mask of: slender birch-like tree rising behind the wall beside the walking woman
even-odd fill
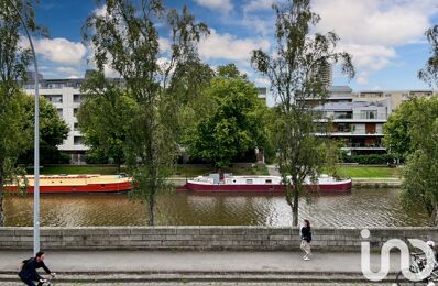
[[[350,55],[335,52],[339,37],[327,34],[310,35],[310,28],[319,15],[311,12],[309,0],[294,0],[278,7],[276,13],[276,50],[272,55],[253,51],[254,68],[271,81],[278,99],[274,122],[280,173],[286,188],[286,201],[293,211],[293,224],[298,224],[298,196],[304,193],[306,178],[315,178],[326,157],[316,136],[316,120],[321,113],[313,110],[307,99],[324,101],[328,95],[321,75],[331,64],[341,63],[342,72],[354,75]],[[291,185],[292,184],[292,185]]]

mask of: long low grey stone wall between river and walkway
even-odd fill
[[[368,241],[380,250],[388,239],[438,241],[437,228],[371,228]],[[360,251],[361,229],[315,228],[311,245],[320,251]],[[298,250],[298,229],[265,227],[99,227],[42,228],[42,250]],[[32,249],[32,228],[0,228],[0,250]]]

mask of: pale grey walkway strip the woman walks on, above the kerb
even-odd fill
[[[0,270],[17,271],[30,251],[0,251]],[[240,272],[240,273],[361,273],[360,253],[315,253],[303,261],[300,252],[182,252],[182,251],[48,251],[46,265],[54,272]],[[392,257],[392,271],[399,267]],[[372,268],[380,255],[371,255]]]

